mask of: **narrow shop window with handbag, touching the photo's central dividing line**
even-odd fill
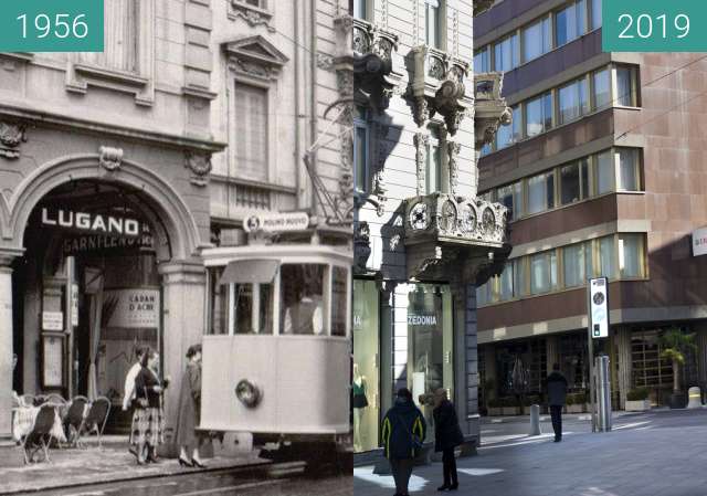
[[[354,281],[354,451],[374,450],[379,444],[379,300],[374,281]]]

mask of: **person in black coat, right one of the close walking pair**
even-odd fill
[[[454,448],[464,443],[454,404],[446,397],[446,389],[434,392],[434,451],[442,452],[444,484],[437,490],[456,490],[460,487],[456,474]]]

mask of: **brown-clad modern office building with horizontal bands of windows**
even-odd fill
[[[690,249],[706,222],[703,57],[602,52],[600,0],[498,2],[475,33],[476,66],[505,71],[514,114],[479,161],[482,192],[511,209],[514,246],[478,294],[488,405],[539,393],[553,362],[584,402],[597,276],[610,282],[610,337],[595,345],[611,359],[614,405],[635,388],[669,403],[671,328],[695,334],[680,382],[704,389],[705,264]],[[513,384],[518,360],[526,388]]]

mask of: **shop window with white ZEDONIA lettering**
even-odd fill
[[[454,398],[452,295],[449,286],[418,284],[408,305],[408,383],[434,437],[431,401],[421,397],[440,388]]]

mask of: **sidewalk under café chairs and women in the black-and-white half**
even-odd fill
[[[184,468],[177,460],[162,458],[158,464],[138,466],[135,456],[128,453],[125,436],[104,437],[98,448],[95,437],[88,441],[88,447],[52,448],[51,463],[35,463],[17,466],[14,458],[22,457],[22,448],[0,447],[0,494],[46,490],[57,487],[81,486],[103,482],[129,481],[146,477],[159,477],[177,474],[218,471],[223,468],[260,466],[266,469],[271,462],[254,454],[239,457],[217,456],[207,458],[207,468]],[[1,463],[12,457],[13,465]]]

